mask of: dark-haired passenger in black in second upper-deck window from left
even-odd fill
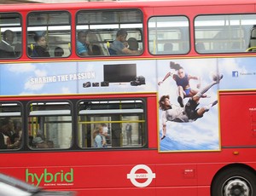
[[[32,57],[49,57],[48,46],[44,35],[36,34],[34,36],[36,45],[32,49]]]

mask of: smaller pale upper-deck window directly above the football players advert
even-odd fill
[[[148,47],[152,55],[187,54],[189,20],[185,16],[160,16],[148,20]]]

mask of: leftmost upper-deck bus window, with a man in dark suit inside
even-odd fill
[[[0,59],[21,56],[21,16],[18,13],[0,14]]]

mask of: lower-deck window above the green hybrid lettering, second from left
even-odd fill
[[[32,149],[71,147],[72,117],[68,102],[32,102],[29,106],[28,141]]]

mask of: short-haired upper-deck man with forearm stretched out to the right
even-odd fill
[[[126,37],[128,33],[125,29],[120,29],[116,34],[116,39],[109,47],[110,55],[140,55],[142,51],[127,48]]]

